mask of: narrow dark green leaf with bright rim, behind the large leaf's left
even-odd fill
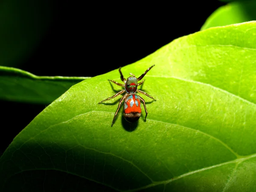
[[[0,99],[48,105],[71,86],[88,78],[35,76],[17,68],[0,66]]]

